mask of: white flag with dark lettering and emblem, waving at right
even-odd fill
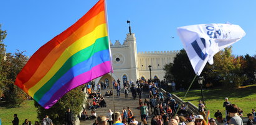
[[[207,62],[214,63],[214,54],[245,36],[239,25],[232,24],[189,25],[177,30],[197,75],[201,74]]]

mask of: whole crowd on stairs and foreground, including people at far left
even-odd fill
[[[90,115],[87,113],[87,109],[84,109],[80,114],[80,120],[95,120],[94,125],[97,124],[148,124],[148,121],[151,125],[166,125],[166,124],[175,124],[175,125],[185,125],[185,124],[197,124],[197,125],[206,125],[209,124],[216,125],[216,120],[218,123],[224,124],[243,124],[242,110],[235,104],[231,104],[228,101],[228,98],[225,98],[223,107],[225,108],[225,117],[223,118],[220,110],[214,114],[216,119],[207,118],[206,117],[206,106],[204,102],[199,100],[198,113],[193,114],[190,113],[186,108],[187,106],[181,104],[179,108],[179,103],[173,98],[171,93],[163,93],[159,91],[159,88],[164,87],[166,85],[165,80],[159,81],[151,81],[151,80],[141,80],[138,79],[136,82],[133,80],[125,81],[123,83],[123,89],[121,89],[120,80],[118,79],[116,82],[113,81],[113,90],[115,90],[116,95],[113,95],[113,90],[110,88],[107,92],[102,94],[101,90],[110,87],[108,83],[104,83],[100,81],[97,84],[97,88],[95,88],[95,82],[92,80],[89,82],[85,88],[88,93],[88,107],[87,109],[90,111]],[[175,82],[172,82],[172,85],[175,87]],[[95,92],[96,90],[96,92]],[[173,88],[175,91],[176,88]],[[123,107],[120,112],[113,113],[110,109],[108,110],[107,115],[98,116],[96,110],[97,108],[107,107],[107,103],[105,101],[105,97],[115,96],[120,98],[120,93],[125,94],[125,98],[133,98],[136,100],[138,95],[138,110],[140,110],[140,118],[135,118],[135,114],[130,109],[130,107]],[[148,95],[144,96],[143,95]],[[131,95],[131,97],[130,97]],[[145,98],[146,97],[146,98]],[[143,99],[142,99],[143,98]],[[138,114],[136,114],[138,115]],[[65,123],[73,124],[73,114],[70,111],[70,108],[65,112]],[[256,112],[252,109],[252,113],[247,114],[249,118],[247,124],[254,124],[256,122]],[[151,117],[151,119],[149,119]],[[138,120],[139,119],[139,120]],[[207,120],[208,119],[208,120]],[[19,119],[17,118],[17,114],[14,114],[13,124],[19,124]],[[25,119],[25,125],[32,124],[31,121]],[[23,125],[22,124],[22,125]],[[34,124],[39,124],[36,121]],[[53,124],[52,120],[49,116],[45,115],[45,118],[42,119],[41,124]]]

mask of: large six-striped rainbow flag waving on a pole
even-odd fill
[[[105,1],[100,0],[29,59],[15,84],[45,109],[65,93],[111,71]]]

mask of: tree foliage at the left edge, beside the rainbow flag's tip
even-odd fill
[[[17,52],[14,55],[6,53],[3,43],[6,38],[6,30],[1,30],[0,25],[0,96],[8,105],[20,105],[26,100],[26,93],[14,85],[16,75],[21,71],[27,61],[23,52]]]

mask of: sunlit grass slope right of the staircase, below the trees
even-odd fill
[[[174,92],[178,97],[183,98],[186,92]],[[228,89],[211,89],[204,90],[204,98],[206,100],[206,108],[210,110],[211,118],[214,118],[214,113],[220,110],[225,116],[225,108],[223,107],[224,98],[229,98],[230,103],[242,108],[244,111],[243,117],[247,117],[248,113],[252,112],[252,108],[256,108],[256,85],[248,85],[240,88]],[[190,90],[184,101],[191,101],[197,106],[198,100],[201,100],[201,90]]]

